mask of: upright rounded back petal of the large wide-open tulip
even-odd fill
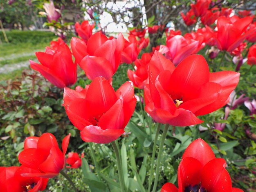
[[[191,55],[185,58],[171,75],[171,97],[183,101],[197,98],[198,89],[209,82],[209,67],[201,55]]]

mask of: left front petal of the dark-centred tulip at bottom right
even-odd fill
[[[184,191],[189,185],[199,184],[201,181],[202,163],[193,157],[186,157],[181,160],[178,167],[179,189]]]

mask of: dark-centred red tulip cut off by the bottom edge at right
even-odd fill
[[[161,192],[243,192],[232,188],[226,161],[216,158],[211,147],[201,138],[185,150],[178,167],[178,186],[166,183]]]

